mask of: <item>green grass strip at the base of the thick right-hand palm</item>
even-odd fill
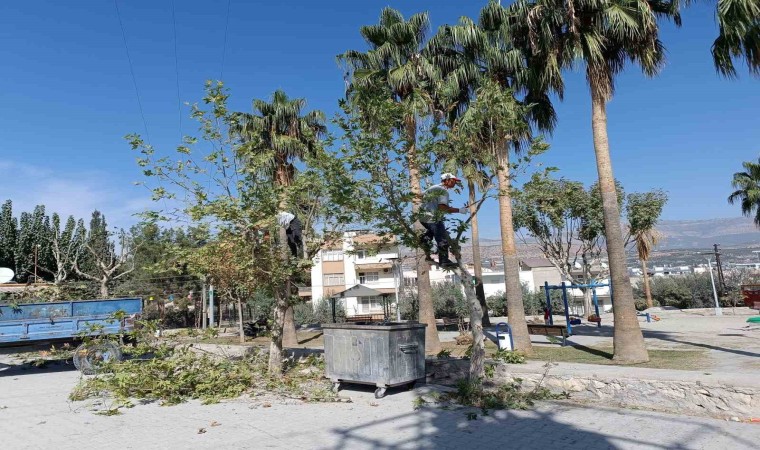
[[[533,346],[528,359],[583,364],[618,365],[612,360],[612,347],[586,347],[582,345]],[[704,350],[649,350],[649,362],[636,367],[653,369],[699,370],[709,366]]]

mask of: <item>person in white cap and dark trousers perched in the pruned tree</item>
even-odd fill
[[[432,241],[435,239],[436,246],[438,247],[438,265],[442,268],[456,266],[449,259],[449,243],[451,238],[448,231],[446,231],[446,225],[443,221],[448,213],[467,214],[466,207],[452,208],[449,206],[449,189],[460,183],[461,180],[454,176],[454,174],[444,173],[441,175],[441,184],[427,188],[422,194],[420,223],[425,227],[424,244],[431,247]]]

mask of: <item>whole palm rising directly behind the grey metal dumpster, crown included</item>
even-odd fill
[[[414,14],[405,20],[400,12],[387,7],[380,13],[377,25],[366,25],[360,29],[370,49],[366,52],[348,50],[338,56],[338,61],[348,69],[347,95],[360,110],[367,92],[382,92],[403,108],[403,118],[397,128],[406,138],[409,187],[415,213],[422,199],[417,117],[428,113],[431,86],[439,78],[426,48],[429,29],[427,13]],[[423,232],[421,224],[415,226],[420,233]],[[416,265],[419,318],[420,322],[427,324],[425,349],[428,353],[437,353],[440,341],[435,325],[429,267],[423,258],[417,258]]]

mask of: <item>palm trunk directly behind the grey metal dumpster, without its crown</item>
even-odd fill
[[[417,166],[417,122],[414,117],[407,117],[405,121],[407,149],[406,157],[409,165],[409,187],[413,197],[412,208],[416,213],[422,200],[422,187],[420,174]],[[424,232],[424,227],[419,221],[415,221],[414,228],[418,233]],[[417,298],[419,301],[419,321],[427,325],[425,327],[425,352],[436,354],[441,351],[441,341],[438,338],[438,329],[435,326],[435,309],[433,307],[433,293],[430,287],[430,266],[424,256],[417,252]]]

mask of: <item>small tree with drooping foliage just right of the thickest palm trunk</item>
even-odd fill
[[[636,247],[636,254],[641,261],[643,271],[644,295],[647,307],[654,306],[652,293],[649,289],[649,270],[647,261],[654,247],[660,240],[657,232],[657,222],[662,215],[662,208],[668,201],[668,196],[663,191],[628,194],[626,198],[626,216],[628,218],[627,241]]]

